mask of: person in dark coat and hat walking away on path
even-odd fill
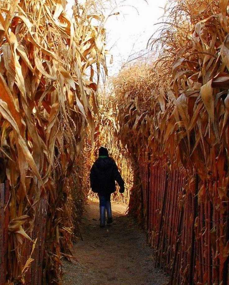
[[[107,224],[113,222],[110,195],[115,192],[115,181],[119,184],[119,192],[124,193],[124,180],[113,158],[105,147],[100,147],[99,157],[96,159],[90,171],[91,190],[99,195],[100,202],[100,227],[105,226],[105,213],[107,212]]]

